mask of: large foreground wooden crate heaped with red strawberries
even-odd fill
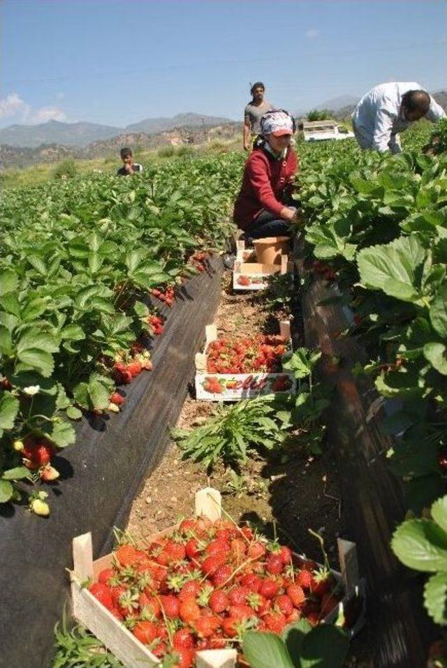
[[[247,665],[247,630],[281,634],[300,618],[348,617],[341,574],[222,518],[212,488],[196,494],[196,517],[144,545],[122,542],[93,561],[85,534],[73,558],[75,617],[129,668],[235,668]]]

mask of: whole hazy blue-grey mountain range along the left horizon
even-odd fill
[[[41,144],[85,147],[91,142],[101,141],[124,133],[160,133],[175,128],[202,128],[231,122],[229,119],[203,116],[201,114],[177,114],[172,118],[144,119],[126,128],[96,123],[62,123],[47,121],[40,125],[11,125],[0,130],[0,143],[11,147],[36,148]]]

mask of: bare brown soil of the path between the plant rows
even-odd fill
[[[277,310],[284,317],[284,306]],[[215,322],[219,332],[237,332],[241,336],[259,330],[272,332],[277,327],[277,320],[265,308],[260,295],[231,294],[230,272],[223,276]],[[299,338],[299,316],[294,329]],[[189,397],[177,426],[191,429],[214,410],[213,403]],[[281,542],[300,554],[323,561],[321,547],[309,528],[318,531],[324,538],[331,565],[338,567],[337,537],[343,533],[343,527],[339,480],[330,444],[326,444],[320,457],[312,457],[298,440],[281,457],[267,459],[256,454],[240,472],[221,465],[208,475],[200,464],[182,460],[182,451],[172,442],[135,498],[127,530],[136,539],[144,540],[155,531],[175,524],[180,517],[193,514],[194,494],[206,486],[221,491],[223,508],[235,521],[249,521],[271,537],[276,530]],[[363,631],[353,641],[349,667],[371,665],[367,660],[368,635]]]

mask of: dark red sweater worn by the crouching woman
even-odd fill
[[[275,159],[262,147],[254,149],[245,163],[235,202],[233,218],[237,227],[246,230],[263,209],[279,217],[285,206],[281,199],[291,191],[296,170],[297,159],[291,148],[284,160]]]

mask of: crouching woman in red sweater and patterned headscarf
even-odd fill
[[[283,237],[297,222],[293,179],[298,170],[291,148],[295,121],[285,110],[272,110],[261,119],[261,137],[245,163],[233,218],[246,239]],[[295,205],[295,206],[294,206]]]

